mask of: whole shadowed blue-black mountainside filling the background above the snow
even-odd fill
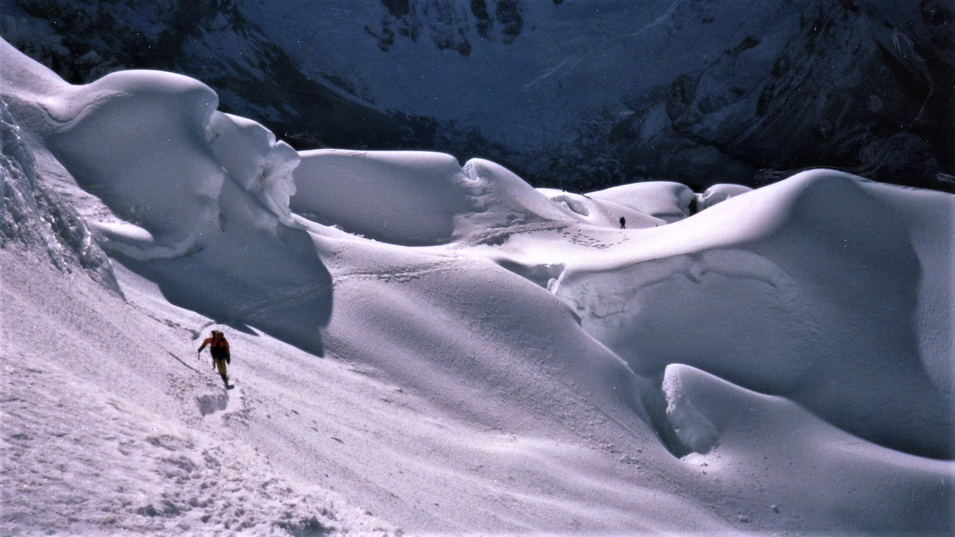
[[[942,0],[8,4],[0,35],[73,82],[192,75],[308,147],[438,148],[588,189],[955,174]]]

